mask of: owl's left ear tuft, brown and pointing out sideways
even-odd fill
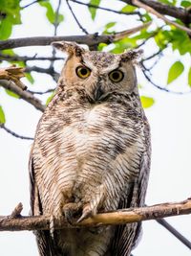
[[[51,43],[51,45],[62,52],[66,52],[69,55],[81,56],[81,54],[85,52],[85,50],[75,42],[54,41]]]

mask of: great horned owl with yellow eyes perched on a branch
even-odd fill
[[[142,206],[150,131],[141,107],[138,52],[91,52],[54,42],[68,58],[31,153],[32,215],[79,221],[97,212]],[[41,256],[128,256],[140,223],[37,231]]]

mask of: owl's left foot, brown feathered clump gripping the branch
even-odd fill
[[[82,204],[80,202],[69,202],[63,206],[63,214],[70,224],[74,223],[74,217],[80,214],[82,210]]]

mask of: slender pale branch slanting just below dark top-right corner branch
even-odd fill
[[[153,8],[145,5],[145,4],[142,4],[140,1],[138,0],[132,0],[133,4],[135,6],[138,6],[139,8],[143,8],[144,10],[146,10],[147,12],[150,12],[154,15],[156,15],[157,17],[159,17],[160,19],[162,19],[163,21],[165,21],[167,24],[170,24],[170,25],[173,25],[175,26],[176,28],[186,32],[188,35],[191,35],[191,29],[188,29],[182,25],[180,25],[179,23],[176,23],[170,19],[168,19],[167,17],[165,17],[164,15],[160,14],[159,12],[157,12],[156,10],[154,10]]]

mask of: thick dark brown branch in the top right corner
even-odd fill
[[[133,5],[132,0],[120,0],[120,1],[125,2],[126,4]],[[178,18],[184,24],[191,23],[191,12],[189,12],[186,9],[165,5],[165,4],[159,3],[158,1],[153,1],[153,0],[141,0],[140,2],[147,5],[148,7],[151,7],[152,9],[156,10],[160,14],[169,15],[171,17]]]

